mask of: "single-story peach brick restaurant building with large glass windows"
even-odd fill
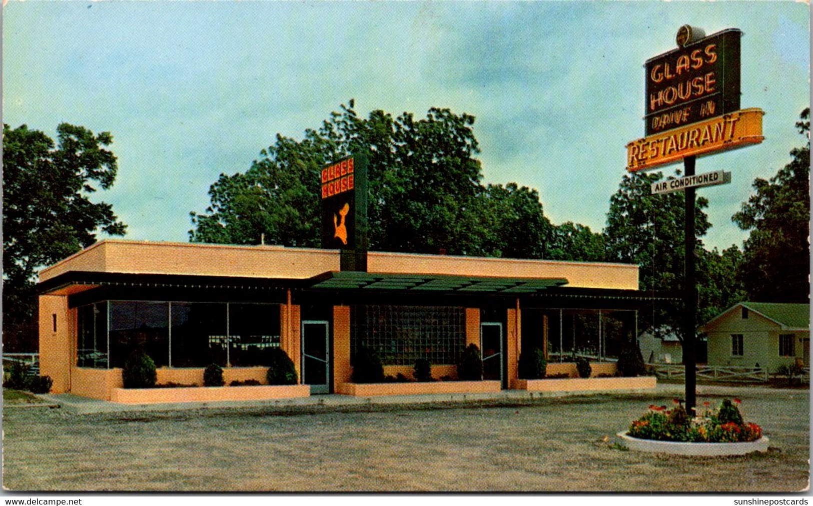
[[[198,385],[211,363],[227,384],[264,383],[263,351],[282,348],[311,393],[346,393],[359,346],[393,376],[425,358],[452,380],[472,343],[502,389],[522,387],[531,348],[549,374],[576,376],[578,353],[609,376],[624,339],[635,343],[637,311],[657,301],[633,265],[370,252],[359,272],[331,249],[132,240],[47,267],[38,289],[41,374],[55,393],[106,400],[134,348],[159,383]]]

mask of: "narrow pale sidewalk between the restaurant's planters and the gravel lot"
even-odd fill
[[[785,390],[772,389],[766,387],[742,387],[698,385],[697,392],[700,395],[740,395],[744,389],[748,391],[759,391],[760,393],[770,393],[772,391],[781,392]],[[808,392],[808,391],[800,391]],[[59,407],[67,409],[76,414],[89,413],[124,413],[141,411],[176,411],[182,409],[292,409],[307,407],[333,407],[333,408],[362,408],[364,406],[387,406],[403,404],[515,404],[524,403],[542,398],[574,397],[574,396],[596,396],[615,394],[651,394],[656,396],[682,396],[684,386],[681,384],[662,384],[652,390],[615,390],[615,391],[572,391],[572,392],[529,392],[522,390],[506,390],[497,393],[478,394],[424,394],[415,396],[344,396],[341,394],[324,394],[310,397],[299,397],[293,399],[278,400],[251,400],[251,401],[219,401],[219,402],[187,402],[187,403],[161,403],[161,404],[120,404],[109,400],[90,399],[89,397],[76,396],[73,394],[43,394],[40,397],[46,401],[42,407],[58,404]],[[9,406],[11,407],[11,406]]]

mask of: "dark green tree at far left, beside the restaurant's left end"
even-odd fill
[[[19,339],[36,309],[37,269],[93,244],[98,231],[124,235],[112,206],[89,195],[117,169],[109,132],[59,124],[57,143],[26,125],[3,124],[3,340]]]

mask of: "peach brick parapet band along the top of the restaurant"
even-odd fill
[[[370,272],[389,274],[565,278],[567,286],[576,288],[638,288],[638,267],[624,264],[371,252],[367,266]],[[41,270],[40,280],[70,270],[306,279],[339,270],[339,254],[281,246],[103,240]]]

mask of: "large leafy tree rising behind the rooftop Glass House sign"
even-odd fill
[[[277,136],[245,174],[220,175],[205,214],[192,213],[194,242],[318,246],[319,175],[324,164],[363,151],[369,157],[370,246],[385,251],[485,254],[485,223],[474,117],[430,109],[425,119],[354,103],[302,141]]]

